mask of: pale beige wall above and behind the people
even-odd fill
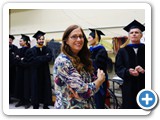
[[[12,9],[10,11],[10,34],[15,35],[14,43],[19,45],[20,34],[32,38],[37,30],[46,32],[46,39],[60,40],[63,31],[71,24],[78,24],[88,36],[88,28],[99,28],[106,37],[124,36],[127,33],[122,29],[132,20],[144,23],[145,11],[136,10],[63,10],[63,9]]]

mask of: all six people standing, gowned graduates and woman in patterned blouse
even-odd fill
[[[45,32],[38,30],[33,37],[37,44],[30,47],[30,38],[21,34],[20,46],[9,35],[9,103],[18,99],[15,107],[28,109],[105,109],[108,82],[107,50],[100,44],[98,29],[89,28],[86,38],[78,25],[69,26],[62,37],[62,46],[44,45]],[[121,109],[139,109],[136,96],[145,88],[145,45],[140,43],[144,25],[134,20],[124,30],[131,43],[120,48],[115,60],[115,73],[123,79]],[[54,40],[51,40],[54,42]],[[88,48],[87,45],[90,47]],[[61,46],[61,51],[60,51]],[[53,80],[49,62],[55,62]],[[51,84],[54,82],[54,88]],[[52,88],[56,101],[52,101]]]

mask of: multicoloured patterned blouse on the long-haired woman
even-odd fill
[[[93,81],[94,75],[85,70],[78,72],[72,65],[70,59],[61,53],[55,60],[53,68],[53,79],[55,84],[56,109],[94,109],[95,104],[92,96],[96,92]],[[71,98],[70,86],[78,93],[80,99]]]

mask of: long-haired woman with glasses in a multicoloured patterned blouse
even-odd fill
[[[87,39],[81,27],[69,26],[62,37],[61,54],[53,68],[56,109],[94,109],[93,95],[105,81],[105,74],[98,69],[93,74]]]

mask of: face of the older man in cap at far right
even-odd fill
[[[142,32],[138,28],[131,29],[129,31],[128,38],[131,40],[132,44],[139,44],[142,38]]]

